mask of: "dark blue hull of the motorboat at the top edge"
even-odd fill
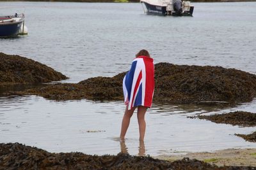
[[[157,5],[149,4],[149,3],[146,3],[143,1],[141,3],[145,4],[145,6],[147,8],[147,14],[164,15],[164,16],[165,15],[178,16],[177,13],[175,13],[174,11],[168,12],[166,10],[166,6],[157,6]],[[181,13],[181,16],[192,16],[193,10],[194,10],[194,6],[190,6],[189,11],[183,11],[183,13]]]

